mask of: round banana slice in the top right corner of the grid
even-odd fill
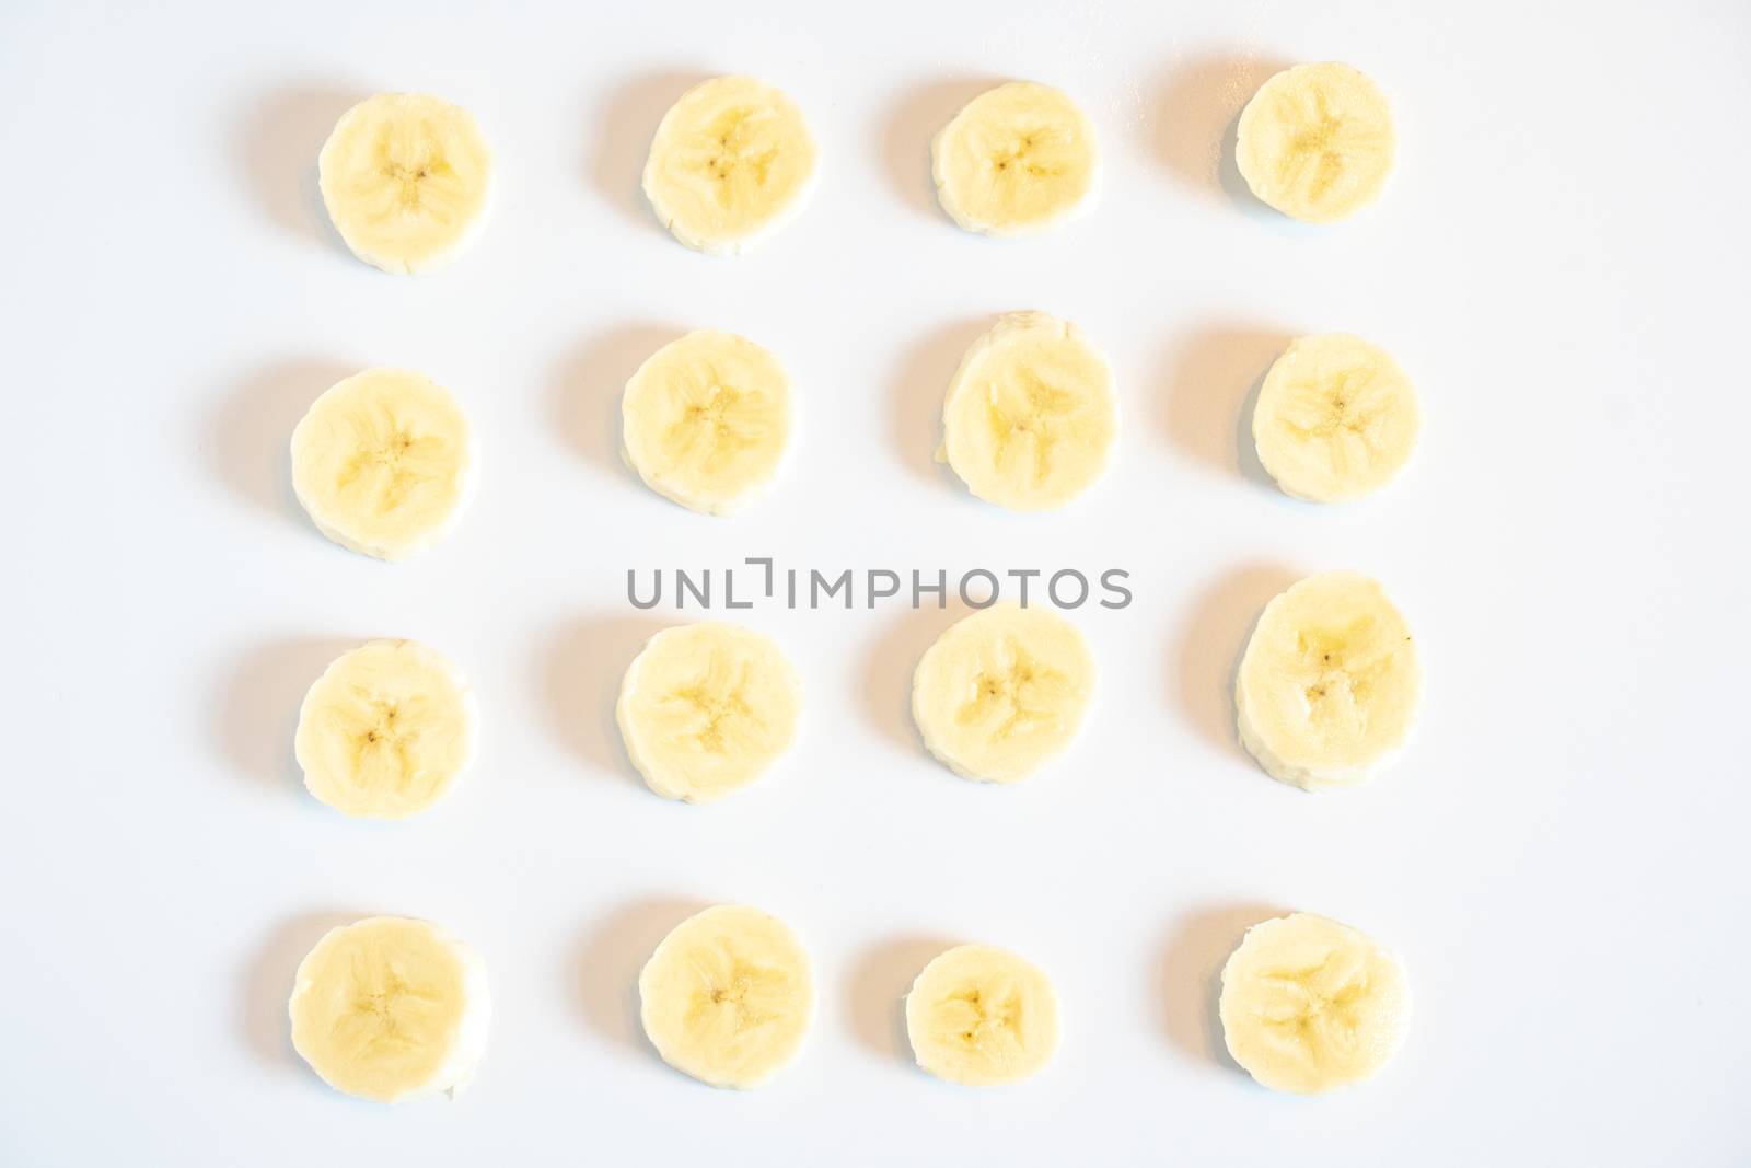
[[[1333,222],[1375,201],[1396,151],[1387,96],[1366,74],[1296,65],[1240,112],[1234,163],[1262,203],[1303,222]]]

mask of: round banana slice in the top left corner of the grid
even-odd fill
[[[422,93],[378,93],[341,114],[317,172],[352,254],[397,275],[461,256],[492,201],[492,149],[473,114]]]

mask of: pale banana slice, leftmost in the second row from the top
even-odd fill
[[[401,560],[438,543],[475,487],[475,434],[448,391],[366,369],[312,403],[292,431],[292,490],[334,543]]]

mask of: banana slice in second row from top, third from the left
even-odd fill
[[[1112,368],[1082,329],[1012,312],[974,341],[942,406],[942,457],[1014,511],[1058,508],[1101,475],[1119,429]]]

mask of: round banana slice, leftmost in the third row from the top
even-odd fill
[[[334,811],[404,820],[475,760],[475,692],[445,655],[371,641],[331,664],[298,713],[305,786]]]

